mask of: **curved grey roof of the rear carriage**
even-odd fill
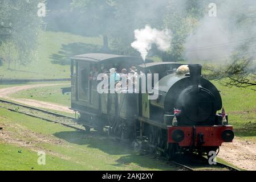
[[[83,55],[77,55],[70,57],[72,60],[88,61],[92,63],[120,63],[127,61],[127,63],[139,65],[143,63],[141,57],[136,56],[123,56],[123,55],[112,55],[105,53],[87,53]]]

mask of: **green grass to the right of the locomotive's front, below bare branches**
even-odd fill
[[[243,139],[256,140],[256,91],[226,87],[213,81],[221,91],[222,105],[229,115],[229,124],[235,135]]]

